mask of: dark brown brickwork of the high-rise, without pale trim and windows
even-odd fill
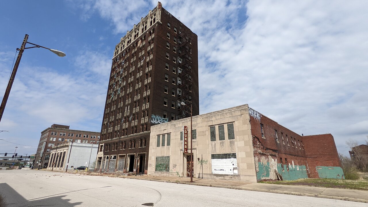
[[[157,10],[156,10],[157,12]],[[170,28],[167,27],[167,22],[170,22]],[[174,63],[173,62],[173,57],[178,57],[178,43],[174,43],[174,37],[178,38],[178,32],[179,32],[179,21],[173,17],[170,14],[167,14],[164,12],[164,9],[162,9],[161,11],[161,22],[156,22],[151,28],[147,29],[143,34],[141,34],[135,41],[132,42],[132,44],[130,46],[128,46],[127,48],[125,48],[120,55],[117,55],[114,57],[113,59],[113,63],[112,63],[112,69],[111,69],[111,74],[110,74],[110,80],[109,80],[109,87],[108,87],[108,91],[107,91],[107,96],[106,96],[106,104],[105,104],[105,113],[103,116],[103,123],[102,123],[102,128],[101,128],[101,138],[103,141],[103,144],[107,145],[110,144],[110,150],[109,151],[105,151],[103,152],[104,156],[106,155],[117,155],[117,154],[138,154],[138,153],[146,153],[146,161],[145,161],[145,169],[148,169],[148,151],[149,151],[149,130],[151,127],[151,115],[158,115],[163,117],[164,112],[167,113],[167,119],[169,119],[169,121],[171,121],[171,114],[173,113],[175,115],[175,119],[178,115],[178,110],[177,110],[177,67],[178,67],[178,63]],[[174,32],[174,27],[177,28],[177,32]],[[192,82],[192,103],[193,103],[193,115],[199,115],[199,92],[198,92],[198,45],[197,45],[197,35],[194,34],[193,32],[190,31],[190,29],[188,29],[187,27],[185,27],[184,25],[182,26],[185,32],[188,32],[188,34],[190,34],[191,39],[192,39],[192,78],[193,78],[193,82]],[[154,32],[154,37],[152,38],[152,34]],[[166,37],[167,32],[170,33],[170,39]],[[136,43],[139,42],[139,40],[145,36],[145,40],[144,46],[135,46]],[[151,36],[151,38],[150,38]],[[169,42],[170,43],[170,48],[166,48],[166,43]],[[153,43],[153,48],[151,49],[147,49],[149,45],[151,45]],[[138,45],[138,44],[137,44]],[[177,47],[177,52],[175,53],[173,51],[173,47],[176,46]],[[134,54],[132,54],[132,51],[137,48],[137,51],[134,52]],[[129,52],[128,52],[129,51]],[[144,55],[141,56],[141,58],[139,58],[139,53],[141,51],[145,51]],[[123,56],[125,52],[125,56]],[[149,53],[148,53],[149,52]],[[166,52],[170,53],[170,58],[166,59]],[[147,61],[147,57],[148,55],[152,54],[152,59],[150,59],[149,61]],[[136,57],[136,60],[133,60],[133,62],[131,62],[131,59],[134,58],[134,56]],[[142,60],[142,57],[145,57],[145,59],[143,60],[143,66],[138,67],[138,63]],[[121,61],[125,60],[124,63],[126,63],[126,61],[128,62],[128,66],[127,67],[123,67],[121,65]],[[152,70],[148,71],[146,73],[146,66],[147,63],[149,63],[149,65],[152,65]],[[166,63],[169,64],[169,69],[167,70],[165,68]],[[132,92],[131,95],[129,95],[129,93],[127,92],[129,87],[128,84],[128,78],[130,77],[130,71],[129,69],[131,67],[135,67],[135,69],[131,72],[132,76],[134,77],[134,80],[132,81]],[[176,73],[173,73],[173,66],[176,67]],[[127,75],[120,74],[120,70],[124,69],[124,72],[127,71]],[[139,73],[142,70],[142,76],[139,78],[137,77],[137,73]],[[165,74],[169,75],[169,80],[165,81]],[[151,77],[151,82],[148,84],[145,84],[145,80],[146,80],[146,76],[150,76]],[[119,78],[125,78],[126,84],[123,86],[122,84],[117,84],[119,81]],[[175,84],[173,84],[173,78],[175,78],[176,82]],[[124,90],[124,95],[120,98],[116,99],[116,101],[109,101],[109,99],[111,98],[110,95],[110,90],[114,89],[113,84],[115,83],[115,85],[118,85],[118,87],[122,87]],[[139,102],[139,111],[132,114],[132,110],[134,108],[134,96],[135,96],[135,85],[141,83],[141,87],[139,87],[137,89],[137,94],[140,94],[140,99],[137,100],[137,102]],[[147,129],[143,130],[141,128],[141,118],[142,118],[142,105],[143,105],[143,94],[145,90],[145,87],[148,87],[149,85],[149,90],[150,90],[150,95],[149,97],[149,108],[146,109],[147,110],[147,115],[148,116],[148,122],[147,122]],[[164,88],[165,85],[168,87],[168,92],[165,93],[164,92]],[[175,89],[176,90],[176,95],[173,96],[172,90]],[[116,90],[115,90],[115,95],[116,95]],[[131,98],[131,103],[128,103],[128,105],[126,105],[126,100]],[[167,106],[164,106],[164,98],[167,98]],[[171,107],[171,103],[172,101],[175,102],[175,106]],[[120,107],[119,106],[119,102],[121,102]],[[111,110],[112,106],[116,106],[114,108],[114,110]],[[137,120],[138,120],[138,124],[137,124],[137,131],[133,131],[133,133],[131,133],[132,130],[132,124],[131,121],[128,121],[128,127],[127,129],[127,133],[124,133],[124,129],[122,128],[122,124],[117,123],[116,119],[117,116],[119,115],[119,113],[122,113],[122,117],[120,119],[124,119],[124,111],[125,111],[125,107],[129,106],[130,107],[130,114],[125,116],[125,119],[129,119],[129,117],[131,115],[133,115],[133,117],[135,117],[135,115],[137,115]],[[106,112],[106,109],[110,108],[109,112]],[[114,116],[114,120],[111,122],[112,127],[113,127],[113,131],[111,132],[111,134],[109,135],[109,138],[107,138],[107,135],[109,134],[109,132],[104,132],[105,129],[106,131],[108,131],[109,128],[109,120],[110,117]],[[104,120],[107,119],[107,123],[104,123]],[[115,127],[118,126],[118,124],[120,124],[120,130],[118,130],[118,133],[115,134]],[[148,133],[143,133],[142,131],[148,131]],[[137,133],[137,134],[135,134]],[[135,140],[135,142],[138,144],[138,141],[140,138],[145,138],[146,139],[146,147],[142,147],[142,148],[132,148],[132,149],[128,149],[126,148],[126,150],[114,150],[112,151],[112,144],[114,143],[118,143],[118,145],[121,143],[121,141],[129,141],[129,140]],[[119,149],[120,147],[118,147]],[[125,157],[125,159],[127,159],[127,157]],[[125,169],[126,169],[126,165],[127,162],[125,162]],[[137,163],[135,163],[135,166],[137,166]]]

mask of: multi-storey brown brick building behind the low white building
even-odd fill
[[[82,131],[69,129],[69,126],[52,124],[51,127],[41,132],[33,167],[47,168],[49,165],[50,151],[54,145],[67,143],[73,140],[75,143],[99,143],[100,133],[95,131]]]

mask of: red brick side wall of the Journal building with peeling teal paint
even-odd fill
[[[251,108],[250,115],[258,180],[343,178],[331,134],[300,136]]]

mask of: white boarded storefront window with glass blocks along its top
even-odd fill
[[[236,153],[211,154],[212,174],[237,175]]]

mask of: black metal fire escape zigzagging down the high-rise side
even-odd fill
[[[179,57],[178,57],[178,116],[177,119],[183,119],[190,117],[190,106],[192,102],[192,57],[191,57],[191,39],[187,32],[183,29],[183,24],[179,23]],[[187,106],[181,106],[181,102],[184,102]]]

